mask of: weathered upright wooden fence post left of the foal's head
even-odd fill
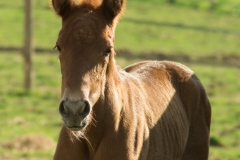
[[[33,65],[32,65],[32,55],[33,55],[33,17],[32,17],[32,1],[25,1],[25,42],[23,49],[24,57],[24,88],[30,90],[32,88],[32,76],[33,76]]]

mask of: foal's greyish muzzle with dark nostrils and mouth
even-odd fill
[[[90,111],[91,106],[86,100],[62,100],[59,105],[59,113],[65,126],[73,131],[82,130],[87,125]]]

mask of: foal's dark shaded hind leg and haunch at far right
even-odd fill
[[[196,76],[181,85],[181,99],[190,120],[189,136],[182,160],[207,160],[211,106]]]

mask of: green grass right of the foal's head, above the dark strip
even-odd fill
[[[117,48],[191,56],[236,54],[238,50],[240,23],[236,17],[147,2],[138,5],[133,1],[127,7],[117,28]]]

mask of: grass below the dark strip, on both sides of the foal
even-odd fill
[[[14,142],[25,134],[41,134],[57,141],[61,119],[58,114],[60,99],[60,70],[57,54],[36,54],[35,87],[26,92],[22,89],[22,57],[16,53],[0,54],[0,133],[2,142]],[[8,59],[8,63],[4,61]],[[127,60],[117,57],[122,66],[142,59]],[[184,62],[183,62],[184,63]],[[185,63],[200,77],[206,87],[212,104],[211,140],[216,146],[210,150],[210,159],[234,160],[240,154],[240,76],[239,69],[231,66],[214,66],[212,64]],[[213,74],[214,71],[214,74]],[[214,143],[212,143],[214,144]],[[12,148],[1,148],[0,155],[11,155],[11,158],[50,159],[54,151],[19,151]],[[0,156],[1,157],[1,156]]]

